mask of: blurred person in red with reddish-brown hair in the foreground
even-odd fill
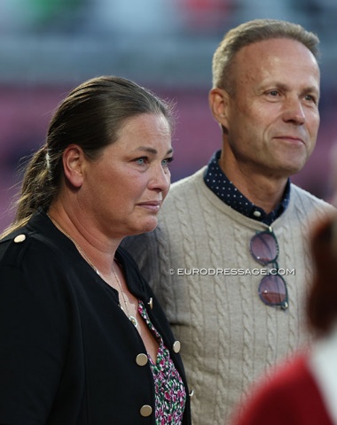
[[[307,314],[317,340],[252,389],[232,425],[337,424],[337,218],[317,225]]]

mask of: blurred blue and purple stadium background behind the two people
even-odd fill
[[[247,19],[286,19],[321,40],[317,147],[292,179],[332,201],[337,185],[336,0],[1,0],[0,231],[9,224],[20,158],[44,143],[51,114],[80,82],[116,74],[176,102],[172,180],[207,164],[221,135],[208,110],[211,60]]]

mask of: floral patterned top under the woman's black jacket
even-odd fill
[[[186,391],[175,364],[169,357],[161,335],[153,327],[142,301],[138,304],[138,313],[159,343],[157,360],[148,355],[155,385],[155,419],[157,425],[181,425],[183,423]]]

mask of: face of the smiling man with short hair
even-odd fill
[[[282,38],[239,50],[232,67],[223,153],[247,174],[288,177],[317,140],[319,69],[302,43]]]

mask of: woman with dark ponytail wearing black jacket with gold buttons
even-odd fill
[[[117,77],[59,105],[0,243],[0,423],[190,423],[180,343],[119,248],[157,225],[172,125]]]

